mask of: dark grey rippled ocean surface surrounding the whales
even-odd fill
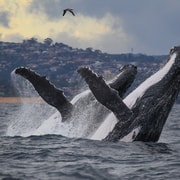
[[[157,143],[107,143],[53,134],[8,136],[9,126],[13,122],[17,126],[18,118],[23,119],[20,108],[21,104],[0,104],[0,179],[180,179],[178,104]],[[37,122],[38,109],[37,114],[28,111],[24,118],[30,122],[20,126],[21,130],[31,126],[33,119],[37,126],[41,123]],[[43,116],[51,113],[46,110]]]

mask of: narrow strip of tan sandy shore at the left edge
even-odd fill
[[[44,103],[40,97],[0,97],[0,104],[4,103]]]

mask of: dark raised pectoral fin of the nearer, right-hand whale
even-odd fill
[[[118,92],[107,85],[102,76],[87,67],[79,68],[78,73],[85,79],[95,98],[119,120],[126,120],[132,115],[132,111],[124,104]]]

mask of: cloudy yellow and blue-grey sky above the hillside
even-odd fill
[[[72,8],[76,16],[63,9]],[[51,38],[111,54],[168,54],[180,44],[180,0],[0,0],[0,41]]]

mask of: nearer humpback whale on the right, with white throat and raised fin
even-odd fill
[[[168,114],[179,93],[180,48],[171,49],[170,59],[165,66],[124,100],[92,70],[82,67],[78,72],[85,79],[96,99],[117,119],[112,130],[103,134],[100,139],[110,142],[159,140]],[[101,132],[103,127],[102,124],[97,131]]]

